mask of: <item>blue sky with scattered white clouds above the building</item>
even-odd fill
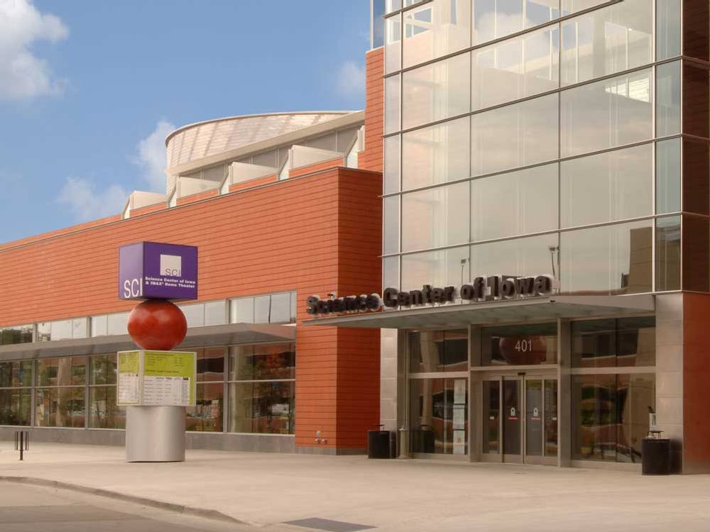
[[[159,187],[173,126],[362,109],[368,6],[0,0],[0,242]]]

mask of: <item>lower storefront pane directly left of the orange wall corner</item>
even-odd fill
[[[229,384],[229,431],[293,434],[295,382]]]

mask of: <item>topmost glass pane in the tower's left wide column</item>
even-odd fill
[[[471,2],[434,0],[404,13],[403,67],[471,45]]]

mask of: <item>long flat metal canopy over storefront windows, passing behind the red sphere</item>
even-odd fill
[[[175,350],[207,348],[216,345],[239,345],[247,343],[283,343],[296,339],[296,328],[291,325],[269,323],[231,323],[187,329],[185,340]],[[0,346],[0,360],[27,360],[33,358],[60,357],[67,355],[99,355],[116,351],[138,349],[127,334],[96,336],[77,340],[53,340],[50,342],[16,343]]]

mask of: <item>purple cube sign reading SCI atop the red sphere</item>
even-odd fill
[[[194,245],[138,242],[119,249],[119,299],[197,299]]]

